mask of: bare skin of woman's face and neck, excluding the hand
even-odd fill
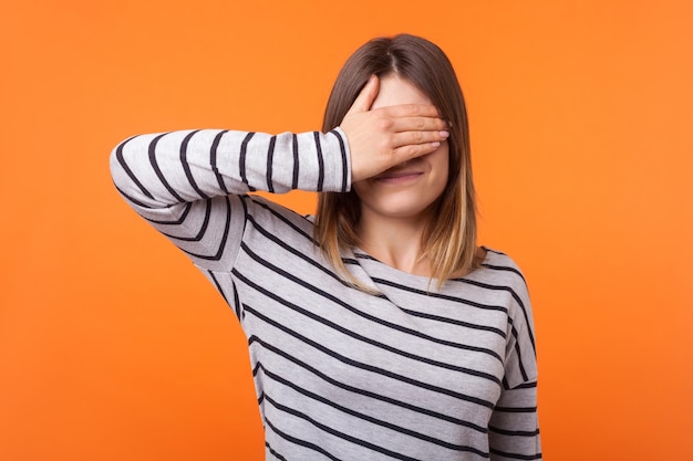
[[[395,74],[382,77],[371,111],[402,105],[430,106],[431,101],[407,80]],[[397,270],[423,276],[431,276],[431,264],[421,258],[421,237],[448,175],[447,132],[436,135],[439,140],[431,142],[427,153],[352,184],[361,199],[356,231],[362,250]]]

